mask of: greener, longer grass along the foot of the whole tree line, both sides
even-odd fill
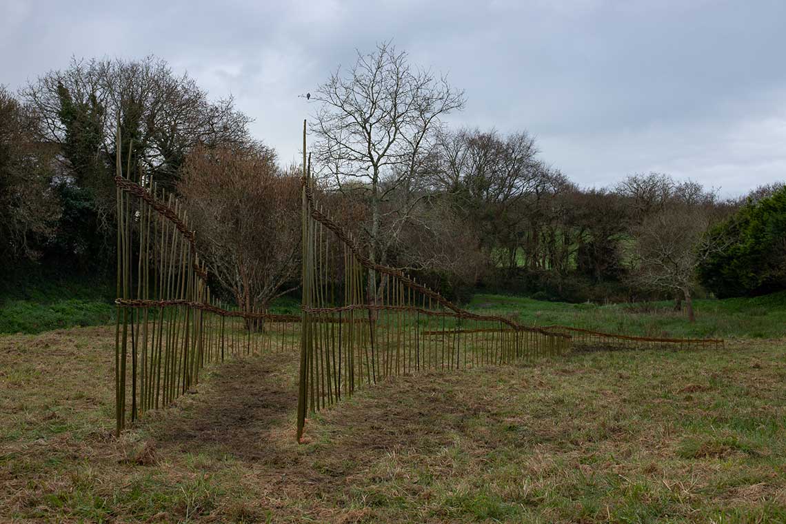
[[[0,333],[40,333],[114,321],[114,288],[87,280],[43,280],[0,296]],[[773,339],[786,336],[786,291],[754,299],[696,300],[695,324],[671,302],[568,304],[508,295],[475,295],[468,309],[512,314],[524,324],[565,324],[628,335]],[[299,314],[297,299],[274,301],[273,313]]]

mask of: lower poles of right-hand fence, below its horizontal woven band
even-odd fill
[[[310,313],[308,402],[318,410],[391,376],[565,354],[570,339],[410,310]],[[359,318],[358,318],[359,317]],[[448,327],[453,324],[453,327]]]

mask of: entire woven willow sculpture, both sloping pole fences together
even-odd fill
[[[117,144],[120,144],[118,129]],[[504,365],[571,345],[719,346],[714,339],[646,339],[567,326],[526,327],[470,313],[398,269],[375,264],[317,202],[303,126],[301,315],[241,312],[211,295],[182,204],[156,184],[117,187],[117,432],[170,405],[200,370],[227,357],[299,347],[297,438],[306,414],[391,376]],[[130,165],[126,174],[130,173]],[[372,290],[369,293],[369,290]]]

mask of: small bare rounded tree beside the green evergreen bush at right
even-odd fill
[[[707,235],[718,222],[713,192],[700,201],[671,200],[659,211],[634,225],[632,244],[623,244],[634,284],[660,291],[677,291],[684,297],[688,319],[696,321],[692,294],[696,289],[696,269],[707,256],[721,250],[719,240]]]

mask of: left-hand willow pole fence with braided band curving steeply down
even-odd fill
[[[124,178],[119,152],[116,170],[119,434],[127,420],[171,404],[196,385],[204,365],[296,352],[300,317],[241,312],[215,299],[181,203],[141,177]]]

